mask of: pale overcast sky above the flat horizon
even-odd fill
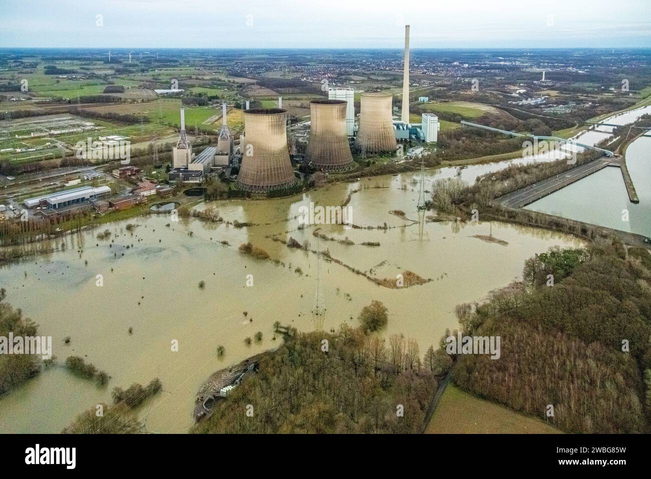
[[[405,23],[413,48],[651,47],[651,0],[0,0],[0,8],[0,47],[400,48]]]

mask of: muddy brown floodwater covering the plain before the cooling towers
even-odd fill
[[[459,176],[472,181],[494,167],[465,168]],[[456,169],[437,171],[428,175],[428,185],[457,174]],[[219,368],[279,344],[280,338],[272,339],[275,321],[303,331],[315,326],[329,330],[342,322],[357,325],[359,310],[372,299],[389,308],[385,334],[416,338],[422,355],[446,328],[456,327],[456,304],[480,300],[519,278],[523,261],[534,253],[552,245],[577,244],[568,236],[500,223],[423,222],[421,232],[419,224],[410,221],[419,220],[414,177],[364,179],[302,198],[210,205],[217,206],[226,221],[251,223],[244,228],[198,219],[173,223],[163,213],[113,223],[107,226],[113,232],[108,241],[95,238],[102,226],[66,238],[66,251],[3,268],[7,301],[34,318],[40,334],[53,336],[60,364],[70,355],[80,355],[111,375],[109,387],[98,389],[61,366],[42,372],[0,398],[3,432],[61,431],[83,409],[110,402],[113,387],[147,383],[155,376],[163,391],[141,409],[146,428],[187,431],[202,381]],[[352,223],[387,223],[386,229],[322,228],[328,236],[348,237],[355,245],[318,241],[312,236],[313,226],[298,229],[295,217],[301,204],[339,205],[355,189],[359,192],[350,200]],[[408,219],[390,215],[390,210],[403,210]],[[127,223],[137,225],[133,234],[126,230]],[[492,234],[508,245],[473,238],[477,234]],[[307,240],[311,249],[327,249],[333,258],[380,279],[395,279],[408,269],[432,281],[393,290],[324,261],[321,288],[326,316],[316,324],[311,315],[316,255],[289,249],[273,241],[274,235]],[[245,241],[266,249],[281,264],[242,256],[237,247]],[[362,241],[378,241],[380,247],[359,245]],[[97,275],[103,275],[104,286],[96,285]],[[246,286],[247,275],[253,275],[253,286]],[[199,288],[200,281],[204,288]],[[262,342],[245,346],[244,338],[256,331],[263,333]],[[71,337],[67,346],[66,336]],[[178,352],[171,350],[172,340],[178,340]],[[215,353],[219,345],[226,350],[223,359]]]

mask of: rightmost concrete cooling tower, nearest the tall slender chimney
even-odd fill
[[[396,150],[396,133],[391,115],[392,100],[391,94],[361,94],[359,130],[355,138],[355,148],[358,151],[380,153]]]

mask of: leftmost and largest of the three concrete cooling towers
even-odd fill
[[[287,111],[281,108],[244,112],[240,189],[264,193],[296,184],[287,149],[286,119]]]

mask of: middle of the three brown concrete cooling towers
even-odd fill
[[[344,100],[314,100],[310,102],[310,140],[305,159],[326,171],[341,171],[353,167],[353,156],[346,133]]]

